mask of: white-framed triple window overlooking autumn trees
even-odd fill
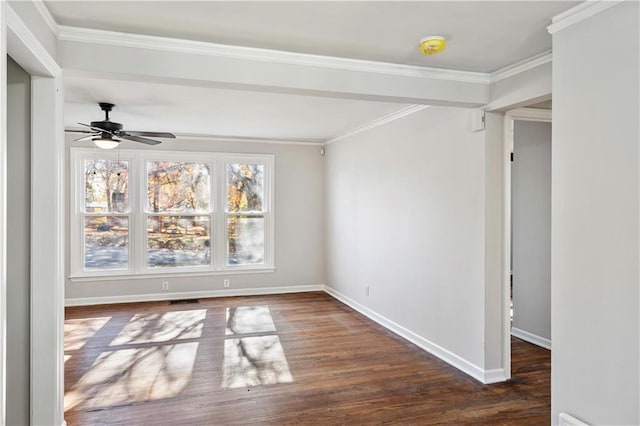
[[[73,148],[72,278],[273,269],[273,156]]]

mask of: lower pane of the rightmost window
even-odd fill
[[[256,265],[264,262],[264,217],[227,217],[227,264]]]

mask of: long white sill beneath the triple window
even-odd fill
[[[69,281],[72,283],[92,282],[92,281],[126,281],[126,280],[146,280],[153,278],[186,278],[186,277],[212,277],[223,275],[244,275],[244,274],[267,274],[275,272],[275,267],[259,267],[259,268],[238,268],[238,269],[219,269],[206,271],[158,271],[133,274],[128,271],[114,272],[111,274],[100,275],[71,275]]]

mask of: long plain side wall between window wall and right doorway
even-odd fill
[[[470,374],[486,370],[493,309],[484,305],[486,155],[469,111],[445,107],[327,147],[327,285]]]

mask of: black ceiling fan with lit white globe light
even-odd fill
[[[156,138],[176,137],[173,133],[167,132],[134,132],[122,130],[122,124],[109,120],[109,112],[111,112],[115,105],[108,102],[100,102],[98,105],[100,105],[100,109],[104,111],[103,121],[92,121],[90,125],[78,123],[81,126],[88,127],[89,130],[66,130],[71,133],[89,133],[87,136],[74,139],[74,142],[90,140],[99,148],[111,149],[118,146],[122,139],[140,142],[147,145],[158,145],[161,143],[160,141],[149,139],[145,136],[152,136]]]

